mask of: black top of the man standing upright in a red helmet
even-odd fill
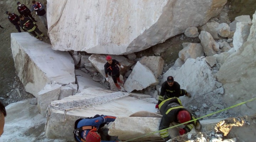
[[[117,66],[119,62],[115,59],[112,59],[112,64],[106,64],[104,65],[105,74],[108,74],[110,76],[116,76],[119,74],[119,67]]]

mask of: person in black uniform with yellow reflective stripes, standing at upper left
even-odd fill
[[[26,29],[29,33],[31,33],[34,37],[36,37],[39,40],[43,40],[41,37],[44,37],[48,39],[47,36],[45,36],[38,28],[36,25],[36,22],[34,22],[31,18],[24,17],[22,15],[20,17],[20,25],[22,26],[23,29]],[[41,36],[39,37],[36,32]]]

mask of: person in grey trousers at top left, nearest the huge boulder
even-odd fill
[[[31,11],[36,11],[36,15],[38,15],[38,17],[41,19],[41,21],[44,24],[44,27],[46,27],[46,29],[48,29],[47,27],[47,15],[46,15],[46,11],[44,10],[44,5],[41,4],[41,2],[36,2],[35,0],[32,1],[32,7],[33,9]]]

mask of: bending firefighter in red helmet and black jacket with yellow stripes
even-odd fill
[[[187,109],[185,109],[182,104],[181,100],[177,97],[169,98],[162,101],[159,104],[160,113],[162,114],[162,119],[160,121],[159,130],[166,129],[170,126],[172,122],[176,123],[184,123],[190,120],[196,119],[196,116],[192,115]],[[184,128],[180,128],[179,133],[183,135],[187,132],[190,132],[193,127],[195,126],[196,130],[201,129],[201,124],[199,120],[195,120],[185,124]],[[160,131],[160,136],[165,141],[171,139],[167,130]]]

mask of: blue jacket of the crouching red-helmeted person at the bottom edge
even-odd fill
[[[116,120],[116,117],[106,116],[106,115],[101,115],[100,117],[97,117],[94,119],[82,119],[78,122],[77,128],[84,127],[85,129],[79,132],[80,139],[78,137],[75,137],[75,139],[78,142],[84,142],[86,140],[86,136],[88,132],[91,129],[94,129],[94,128],[99,129],[101,124],[103,124],[104,126],[106,123],[113,122],[114,120]],[[88,129],[86,129],[86,126],[88,127]],[[116,141],[101,141],[101,142],[116,142]]]

